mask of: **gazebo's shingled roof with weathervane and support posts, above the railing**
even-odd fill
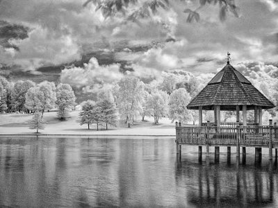
[[[228,53],[229,54],[229,53]],[[202,125],[202,110],[214,110],[214,123],[221,125],[221,110],[236,111],[236,122],[243,112],[243,125],[247,125],[247,110],[254,110],[254,125],[262,125],[262,109],[275,107],[247,78],[229,64],[188,104],[190,110],[199,110],[199,125]]]

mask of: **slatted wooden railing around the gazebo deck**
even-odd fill
[[[177,143],[192,145],[278,146],[278,126],[240,126],[238,128],[201,126],[176,127]],[[271,136],[271,137],[270,137]]]

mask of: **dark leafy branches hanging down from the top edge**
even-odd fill
[[[184,0],[180,0],[184,1]],[[96,8],[95,11],[101,10],[104,17],[113,17],[118,13],[121,13],[126,17],[127,21],[138,21],[155,15],[156,12],[161,8],[167,10],[170,8],[169,0],[88,0],[85,1],[83,6],[88,6],[89,3],[93,3]],[[220,6],[220,20],[224,21],[227,19],[227,15],[231,12],[235,17],[239,17],[239,8],[236,6],[234,0],[199,0],[199,6],[195,10],[186,8],[183,12],[188,13],[186,19],[187,22],[199,21],[200,15],[199,10],[206,4],[212,4]],[[137,6],[137,7],[136,7]]]

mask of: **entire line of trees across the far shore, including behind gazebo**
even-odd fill
[[[196,123],[198,112],[188,110],[186,105],[206,85],[208,80],[195,76],[179,73],[163,73],[160,80],[152,80],[144,83],[134,76],[125,76],[110,88],[99,90],[95,101],[83,101],[82,110],[78,122],[81,125],[96,124],[108,129],[108,126],[116,126],[118,121],[131,127],[139,119],[145,121],[145,116],[152,116],[155,124],[163,117],[168,117],[181,123]],[[266,90],[261,90],[268,96]],[[269,93],[270,94],[270,93]],[[273,93],[272,93],[273,94]],[[269,96],[277,105],[278,97]],[[34,113],[33,125],[43,128],[43,114],[47,110],[57,107],[58,118],[65,120],[67,111],[76,105],[72,87],[68,84],[44,81],[39,84],[31,80],[19,80],[15,83],[8,82],[0,76],[0,111],[1,112],[31,112]],[[203,112],[204,121],[213,121],[213,112]],[[223,121],[232,121],[235,112],[222,112]],[[263,120],[275,119],[277,108],[263,113]],[[254,113],[247,112],[247,122],[254,121]]]

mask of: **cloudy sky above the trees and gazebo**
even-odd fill
[[[239,17],[220,21],[220,7],[200,8],[199,22],[186,22],[186,8],[199,1],[170,1],[167,10],[138,22],[104,17],[93,3],[76,0],[0,0],[0,70],[17,80],[56,80],[94,92],[126,74],[158,79],[163,71],[195,76],[217,73],[227,51],[248,78],[278,77],[278,4],[235,1]],[[142,2],[142,1],[140,1]],[[140,6],[140,3],[138,5]],[[135,10],[132,6],[130,10]]]

